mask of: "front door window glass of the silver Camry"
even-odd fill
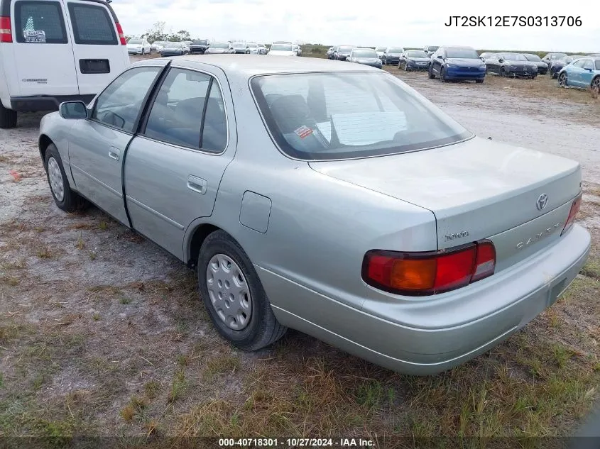
[[[92,118],[133,133],[143,100],[160,70],[160,67],[136,67],[119,75],[98,96]]]

